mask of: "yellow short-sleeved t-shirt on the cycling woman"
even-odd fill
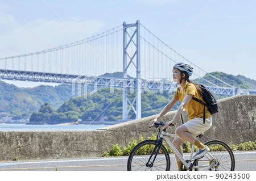
[[[187,86],[187,89],[186,89]],[[184,86],[178,87],[175,91],[174,98],[179,99],[180,102],[183,101],[185,98],[185,95],[193,95],[194,98],[200,99],[204,102],[202,96],[199,94],[199,92],[196,89],[196,86],[193,85],[193,83],[186,82]],[[204,105],[197,102],[196,100],[191,99],[187,106],[185,106],[185,110],[188,112],[188,119],[192,120],[195,117],[204,117]],[[210,112],[208,111],[207,107],[205,106],[205,118],[210,117]]]

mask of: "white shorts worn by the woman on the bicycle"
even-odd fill
[[[188,129],[189,133],[193,134],[193,136],[197,136],[207,131],[212,126],[212,117],[205,118],[205,123],[203,118],[196,117],[183,125]]]

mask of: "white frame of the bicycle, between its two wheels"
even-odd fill
[[[170,134],[170,133],[166,133],[165,131],[162,131],[160,134],[160,138],[164,138],[164,137],[179,137],[177,136],[177,134]],[[192,145],[191,148],[191,153],[189,155],[189,160],[188,163],[185,161],[185,159],[181,156],[181,154],[179,153],[179,151],[175,148],[174,144],[172,144],[171,140],[169,138],[164,139],[167,144],[171,147],[172,150],[174,150],[174,153],[177,155],[177,157],[180,159],[180,161],[183,163],[183,165],[187,168],[187,169],[198,169],[198,168],[203,168],[203,167],[214,167],[215,165],[201,165],[201,166],[194,166],[192,165],[192,168],[189,167],[189,165],[191,165],[191,161],[192,161],[192,157],[193,157],[193,150],[195,149],[195,145]],[[209,153],[205,154],[205,157],[207,157],[209,160],[210,159],[214,159],[214,157],[212,155],[210,155]]]

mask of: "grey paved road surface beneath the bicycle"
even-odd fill
[[[234,152],[236,159],[237,171],[255,171],[256,170],[256,151],[236,151]],[[174,154],[171,157],[171,170],[177,170]],[[98,157],[84,159],[55,159],[40,161],[10,161],[0,162],[1,170],[59,170],[59,171],[75,171],[75,170],[127,170],[128,157]]]

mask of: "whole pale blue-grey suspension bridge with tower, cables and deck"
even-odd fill
[[[256,90],[238,89],[208,74],[160,40],[139,20],[132,24],[124,22],[60,47],[0,58],[0,79],[78,84],[83,85],[84,90],[87,85],[121,87],[123,120],[128,119],[131,110],[139,119],[143,91],[177,89],[176,83],[171,81],[172,66],[177,62],[191,64],[194,68],[191,79],[204,83],[213,94],[256,94]],[[115,72],[122,72],[123,77],[102,76]],[[209,79],[204,78],[205,75],[209,75]],[[136,94],[134,100],[128,99],[129,90]]]

